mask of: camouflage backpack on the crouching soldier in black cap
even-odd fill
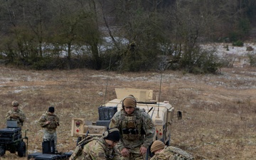
[[[82,141],[78,142],[78,145],[75,147],[75,151],[73,151],[73,154],[70,156],[69,160],[75,160],[82,154],[82,149],[85,146],[85,144],[91,142],[92,140],[95,140],[96,136],[87,136],[85,139],[82,139]]]

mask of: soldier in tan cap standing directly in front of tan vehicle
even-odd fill
[[[145,159],[146,151],[155,134],[154,124],[149,114],[136,107],[132,96],[122,100],[122,110],[111,119],[110,128],[118,128],[121,134],[119,148],[122,159]]]

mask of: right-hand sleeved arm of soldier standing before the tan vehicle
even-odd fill
[[[146,112],[144,112],[143,115],[143,129],[146,132],[146,134],[142,146],[149,148],[150,144],[153,142],[153,137],[156,131],[152,119],[149,117],[149,114],[146,114]]]

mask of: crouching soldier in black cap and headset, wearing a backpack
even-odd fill
[[[93,137],[84,146],[77,146],[69,160],[119,160],[120,156],[114,146],[119,142],[119,129],[108,129],[101,138]],[[83,147],[83,149],[82,149]],[[80,153],[82,149],[82,153]],[[80,153],[80,155],[78,155]]]

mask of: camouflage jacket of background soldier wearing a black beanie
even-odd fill
[[[46,124],[47,121],[49,121],[50,124]],[[40,126],[46,129],[50,134],[56,132],[56,128],[60,125],[58,116],[56,114],[50,114],[49,112],[42,114],[38,122]]]

